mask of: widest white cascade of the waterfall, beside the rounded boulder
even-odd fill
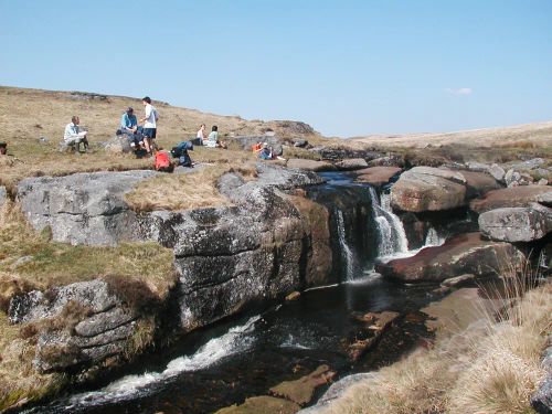
[[[378,256],[390,257],[408,252],[408,241],[401,219],[391,209],[390,194],[381,195],[381,203],[373,187],[369,187],[372,198],[372,213],[378,226]]]

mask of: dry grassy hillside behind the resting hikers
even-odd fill
[[[12,189],[25,177],[64,176],[81,171],[132,170],[151,168],[151,160],[130,155],[113,155],[97,146],[115,136],[120,116],[128,106],[138,117],[144,107],[141,97],[108,96],[83,92],[53,92],[0,86],[0,141],[8,142],[12,157],[0,159],[0,185]],[[160,113],[158,145],[170,148],[195,136],[201,124],[208,131],[219,126],[220,135],[232,141],[233,136],[263,135],[273,130],[278,137],[307,138],[319,142],[322,137],[310,126],[289,120],[245,120],[238,116],[221,116],[180,108],[153,100]],[[59,152],[65,125],[77,115],[88,130],[93,153]],[[203,162],[244,162],[253,160],[251,152],[238,146],[230,150],[197,148],[193,159]]]

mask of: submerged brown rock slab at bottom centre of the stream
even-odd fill
[[[270,393],[275,396],[283,397],[298,405],[305,405],[312,400],[315,390],[330,382],[336,372],[330,370],[328,365],[320,365],[308,375],[301,376],[296,381],[285,381],[270,389]]]

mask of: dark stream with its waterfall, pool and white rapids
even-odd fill
[[[351,219],[339,203],[332,209],[342,283],[312,288],[298,300],[251,309],[192,332],[125,376],[24,413],[213,413],[266,394],[270,386],[300,378],[320,364],[329,364],[341,376],[395,361],[427,335],[418,309],[434,296],[426,286],[395,284],[371,270],[373,259],[412,254],[389,197],[382,197],[380,203],[372,188],[352,183],[342,174],[328,177],[331,191],[350,187],[365,193],[369,214],[364,226],[372,220],[375,229],[361,233],[378,238],[375,253],[363,252],[368,244],[362,237],[368,236],[352,234],[359,226],[348,224]],[[362,219],[364,210],[359,209],[357,216]],[[436,232],[429,233],[426,243],[443,242]],[[363,254],[368,261],[359,259]],[[374,349],[352,362],[346,344],[361,328],[353,316],[383,310],[400,311],[402,317]]]

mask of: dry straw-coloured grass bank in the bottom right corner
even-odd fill
[[[545,374],[540,358],[551,333],[552,285],[520,297],[524,283],[514,280],[495,311],[478,306],[477,322],[380,370],[321,413],[532,412],[529,399]]]

